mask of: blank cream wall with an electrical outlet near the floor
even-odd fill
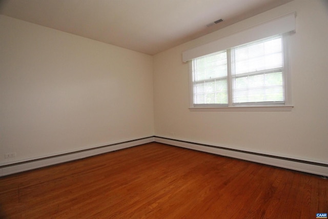
[[[4,15],[0,50],[0,165],[154,135],[152,56]]]

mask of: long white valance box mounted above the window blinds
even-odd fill
[[[295,13],[273,19],[272,21],[262,23],[227,37],[219,38],[216,41],[184,51],[182,52],[182,61],[187,62],[203,55],[257,41],[258,39],[295,31],[295,22]]]

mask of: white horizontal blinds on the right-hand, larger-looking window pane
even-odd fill
[[[232,103],[283,103],[281,35],[231,49]]]

